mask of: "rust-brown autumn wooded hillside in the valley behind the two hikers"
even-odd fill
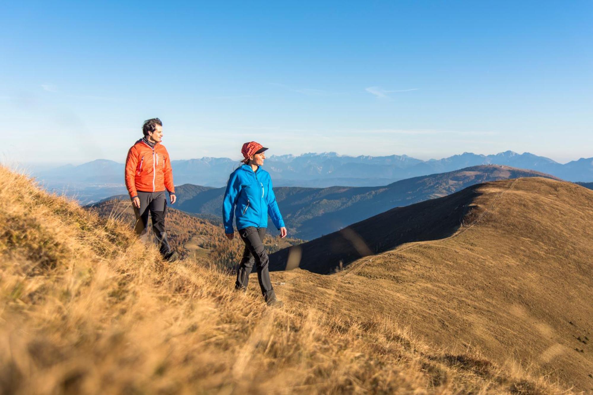
[[[105,200],[88,206],[88,209],[101,217],[125,222],[130,228],[135,224],[132,203],[129,199]],[[172,209],[170,206],[167,208],[165,225],[171,248],[177,251],[181,258],[208,258],[209,262],[218,267],[234,267],[241,260],[245,244],[239,237],[229,241],[221,225],[213,225],[205,219]],[[149,232],[152,230],[149,229]],[[269,254],[300,242],[302,240],[280,239],[269,235],[264,239],[264,245]]]

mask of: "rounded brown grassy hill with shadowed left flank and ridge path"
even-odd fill
[[[593,391],[591,223],[591,190],[502,180],[392,209],[270,262],[296,268],[278,276],[302,303],[384,314],[438,347],[474,347]]]

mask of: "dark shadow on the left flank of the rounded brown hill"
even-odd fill
[[[398,245],[449,237],[461,226],[466,208],[477,196],[468,187],[444,198],[398,207],[347,226],[340,231],[270,255],[270,271],[302,268],[330,274],[359,258]]]

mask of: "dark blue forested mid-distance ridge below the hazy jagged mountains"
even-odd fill
[[[394,207],[446,196],[477,183],[518,177],[555,178],[533,170],[489,165],[413,177],[379,187],[275,187],[274,191],[289,234],[310,240]],[[220,218],[224,191],[224,187],[180,185],[176,208]],[[118,197],[109,199],[113,198]],[[271,222],[269,229],[275,233]]]

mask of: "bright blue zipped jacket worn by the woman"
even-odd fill
[[[284,226],[282,215],[272,190],[270,173],[259,167],[253,171],[251,166],[244,164],[231,173],[227,190],[222,200],[222,221],[226,233],[232,233],[232,216],[237,222],[237,229],[247,226],[267,228],[267,215],[272,218],[276,228]]]

